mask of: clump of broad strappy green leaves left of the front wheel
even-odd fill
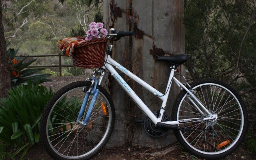
[[[14,147],[39,141],[39,122],[52,90],[28,82],[8,90],[8,97],[0,100],[0,140]]]

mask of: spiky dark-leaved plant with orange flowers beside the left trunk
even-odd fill
[[[44,68],[24,69],[36,59],[25,62],[26,57],[16,56],[17,52],[18,49],[14,50],[12,48],[9,48],[6,51],[8,66],[10,67],[11,72],[12,86],[26,84],[28,81],[32,81],[33,83],[36,83],[38,80],[40,80],[41,83],[49,81],[46,78],[50,76],[50,74],[36,74],[36,72],[44,70]]]

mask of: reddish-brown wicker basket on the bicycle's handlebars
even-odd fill
[[[104,65],[107,38],[93,39],[77,44],[72,54],[73,66],[100,68]]]

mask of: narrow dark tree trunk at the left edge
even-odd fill
[[[7,90],[11,88],[10,70],[7,65],[6,43],[4,26],[2,24],[2,2],[0,1],[0,98],[6,97]]]

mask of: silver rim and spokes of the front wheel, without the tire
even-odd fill
[[[48,143],[52,150],[63,158],[77,159],[89,156],[100,148],[110,130],[112,112],[110,103],[102,92],[99,92],[88,124],[82,126],[76,123],[85,96],[83,88],[86,87],[74,88],[58,98],[47,118]],[[91,98],[92,95],[81,121],[85,118]],[[102,111],[102,106],[106,112]]]

